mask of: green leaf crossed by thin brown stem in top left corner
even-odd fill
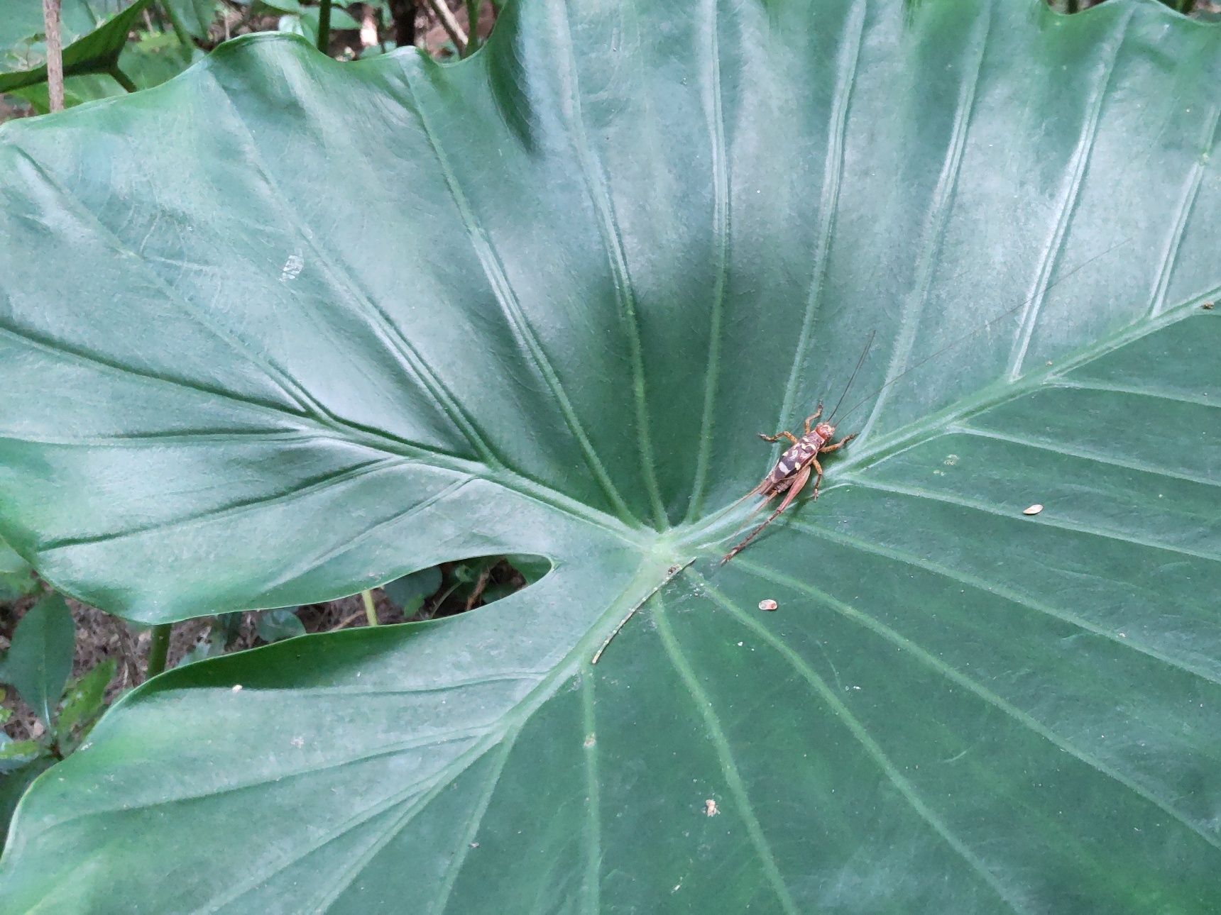
[[[109,73],[127,33],[153,0],[65,0],[61,7],[63,76]],[[15,0],[0,23],[0,93],[46,82],[40,0]]]

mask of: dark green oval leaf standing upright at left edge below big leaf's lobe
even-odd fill
[[[5,655],[5,681],[50,726],[63,684],[72,672],[76,626],[59,594],[48,594],[17,623]]]

